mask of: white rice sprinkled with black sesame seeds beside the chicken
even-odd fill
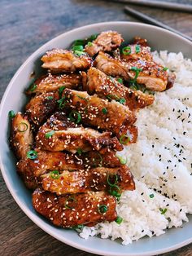
[[[123,222],[84,227],[80,236],[121,238],[124,245],[142,236],[159,236],[180,227],[192,214],[192,61],[181,53],[154,53],[155,61],[176,74],[170,90],[137,113],[137,143],[124,148],[136,183],[120,197]]]

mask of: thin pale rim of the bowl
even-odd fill
[[[26,60],[24,60],[24,63],[20,65],[20,68],[18,68],[18,70],[16,71],[16,73],[14,74],[14,76],[11,78],[11,81],[9,82],[8,86],[7,86],[7,89],[5,90],[4,94],[2,95],[2,101],[1,101],[1,104],[0,104],[0,117],[2,116],[2,107],[3,105],[5,104],[5,99],[7,98],[7,95],[9,93],[9,90],[11,89],[11,86],[13,84],[13,82],[15,81],[15,78],[18,77],[18,75],[20,75],[20,71],[28,64],[28,62],[30,62],[31,60],[33,60],[33,57],[35,55],[38,55],[38,53],[41,53],[41,50],[46,47],[48,44],[50,44],[51,42],[55,42],[57,40],[59,40],[60,38],[64,36],[68,36],[68,33],[75,33],[76,31],[79,31],[79,29],[89,29],[91,27],[98,27],[100,25],[116,25],[116,24],[122,24],[122,25],[126,25],[126,24],[130,24],[130,25],[136,25],[136,24],[141,24],[142,26],[144,27],[147,27],[147,28],[155,28],[155,29],[158,29],[159,31],[164,31],[164,33],[168,33],[168,34],[172,34],[174,35],[175,37],[177,38],[180,38],[182,39],[183,41],[187,42],[190,46],[192,46],[192,42],[190,42],[190,40],[186,39],[186,38],[183,38],[181,37],[180,35],[178,35],[177,33],[173,33],[171,31],[168,31],[167,29],[162,29],[162,28],[159,28],[159,27],[156,27],[154,25],[151,25],[151,24],[142,24],[142,23],[139,23],[139,22],[129,22],[129,21],[108,21],[108,22],[100,22],[100,23],[93,23],[93,24],[89,24],[89,25],[85,25],[85,26],[81,26],[81,27],[77,27],[76,29],[70,29],[68,30],[67,32],[64,32],[64,33],[61,33],[59,34],[58,36],[56,36],[55,38],[52,38],[50,39],[49,41],[47,41],[46,43],[44,43],[43,45],[41,45],[39,48],[37,48],[36,51],[33,51],[33,53],[31,55],[28,56],[28,58]],[[63,242],[64,244],[66,245],[70,245],[76,249],[81,249],[85,252],[89,252],[89,253],[92,253],[92,254],[98,254],[98,255],[106,255],[106,256],[153,256],[153,255],[156,255],[156,254],[164,254],[164,253],[167,253],[167,252],[170,252],[172,250],[175,250],[175,249],[179,249],[185,245],[189,245],[190,243],[192,243],[192,236],[190,239],[187,239],[185,241],[182,241],[180,243],[177,243],[176,245],[172,245],[172,246],[169,246],[165,249],[158,249],[158,250],[153,250],[153,251],[149,251],[149,252],[145,252],[145,253],[139,253],[139,254],[132,254],[132,253],[121,253],[121,254],[116,254],[116,253],[105,253],[103,254],[101,250],[97,250],[97,249],[90,249],[90,248],[87,248],[85,245],[80,245],[79,243],[76,243],[72,240],[68,240],[68,237],[62,237],[62,236],[59,236],[55,233],[52,233],[48,227],[45,227],[44,223],[40,222],[36,216],[32,214],[31,210],[28,210],[25,205],[22,203],[22,201],[20,201],[20,197],[19,196],[16,196],[15,195],[15,192],[13,190],[13,188],[11,188],[11,183],[9,182],[9,179],[7,178],[7,174],[6,174],[6,170],[4,168],[4,165],[2,164],[2,156],[0,155],[0,169],[1,169],[1,172],[2,172],[2,177],[7,185],[7,188],[9,190],[9,192],[11,192],[11,196],[13,196],[15,202],[17,203],[17,205],[20,206],[20,209],[24,212],[24,214],[26,214],[28,216],[28,218],[30,218],[33,223],[35,223],[37,225],[37,227],[40,227],[44,232],[46,232],[47,234],[49,234],[50,236],[53,236],[55,237],[55,239]],[[163,235],[164,236],[164,235]],[[122,245],[124,246],[124,245]],[[125,245],[125,246],[129,246],[129,245]]]

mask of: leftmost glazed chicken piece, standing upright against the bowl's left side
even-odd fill
[[[33,145],[31,125],[22,113],[17,113],[11,120],[10,143],[18,159],[25,158]]]

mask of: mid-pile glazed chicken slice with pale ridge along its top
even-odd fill
[[[99,151],[103,148],[118,151],[123,149],[116,137],[111,138],[110,132],[100,133],[62,118],[52,116],[40,127],[36,136],[37,148],[53,152],[67,150],[72,153],[77,152],[78,148],[82,152],[92,149]]]

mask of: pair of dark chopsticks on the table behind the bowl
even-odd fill
[[[124,3],[131,3],[134,5],[139,5],[139,6],[145,6],[145,7],[160,7],[164,8],[167,10],[174,10],[174,11],[186,11],[192,13],[192,6],[191,5],[184,5],[184,4],[179,4],[179,3],[173,3],[173,2],[158,2],[158,1],[148,1],[148,0],[112,0],[114,2],[124,2]],[[124,7],[124,11],[126,13],[129,13],[130,15],[133,15],[139,20],[145,21],[148,24],[154,24],[158,27],[168,29],[174,33],[177,33],[181,35],[183,38],[187,38],[188,40],[192,41],[192,38],[189,36],[181,33],[177,29],[172,29],[168,25],[160,22],[159,20],[155,20],[154,18],[151,18],[151,16],[143,14],[141,11],[136,11],[131,7]]]

